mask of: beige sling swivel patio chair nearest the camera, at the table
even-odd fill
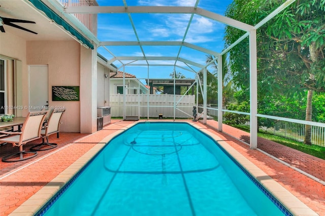
[[[46,114],[47,111],[29,112],[21,131],[0,131],[0,142],[12,143],[13,146],[19,147],[19,152],[3,157],[3,162],[23,161],[37,156],[37,152],[24,151],[22,147],[29,141],[41,138],[41,129]]]

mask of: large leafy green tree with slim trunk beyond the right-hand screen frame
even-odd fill
[[[255,25],[285,1],[234,0],[226,16]],[[296,1],[257,30],[259,99],[286,93],[304,96],[305,120],[312,120],[313,92],[325,91],[325,0]],[[242,31],[226,27],[226,44]],[[248,40],[231,50],[234,80],[248,90]],[[240,58],[238,56],[241,56]],[[236,59],[237,58],[237,59]],[[311,144],[311,127],[306,125],[304,143]]]

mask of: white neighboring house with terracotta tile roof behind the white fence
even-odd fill
[[[135,75],[124,73],[126,94],[147,94],[148,89]],[[123,72],[110,72],[110,94],[123,94]]]

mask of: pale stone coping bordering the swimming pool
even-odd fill
[[[58,174],[55,178],[53,178],[51,182],[49,182],[46,186],[40,189],[36,194],[32,195],[28,200],[26,200],[19,207],[17,207],[9,215],[25,216],[25,215],[36,214],[61,188],[63,188],[64,185],[66,185],[70,181],[70,179],[72,179],[79,172],[79,170],[82,169],[82,167],[86,163],[88,163],[98,152],[101,151],[102,148],[105,147],[107,142],[109,142],[118,134],[124,132],[126,129],[144,121],[146,120],[138,121],[137,123],[130,123],[127,126],[125,126],[125,129],[115,131],[109,134],[108,136],[106,136],[94,147],[92,147],[88,152],[86,152],[83,156],[81,156],[74,163],[72,163],[67,169],[63,170],[60,174]],[[150,121],[146,121],[146,122],[150,122]],[[182,122],[182,121],[178,121],[178,122]],[[219,136],[208,131],[206,127],[202,127],[197,123],[192,123],[188,121],[184,121],[184,123],[192,125],[194,128],[197,128],[198,130],[209,135],[211,138],[217,141],[218,144],[229,155],[231,155],[242,167],[244,167],[249,174],[255,177],[255,179],[262,186],[264,186],[277,200],[279,200],[288,210],[290,210],[291,213],[293,213],[294,215],[301,215],[301,216],[318,215],[306,204],[300,201],[296,196],[291,194],[283,186],[277,183],[272,177],[267,175],[264,171],[259,169],[251,161],[249,161],[242,154],[240,154],[233,147],[231,147],[228,143],[226,143],[226,141],[223,141]]]

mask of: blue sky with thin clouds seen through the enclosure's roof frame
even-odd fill
[[[124,6],[122,0],[97,0],[100,6]],[[194,7],[196,0],[126,0],[128,6],[188,6]],[[224,12],[232,0],[200,0],[198,7],[224,15]],[[131,14],[140,41],[182,41],[189,21],[189,14]],[[200,46],[215,52],[221,52],[224,47],[223,35],[225,25],[194,15],[186,34],[185,42]],[[137,41],[133,27],[127,14],[98,14],[98,39],[106,41]],[[146,56],[177,56],[179,46],[143,46]],[[107,51],[107,50],[108,51]],[[114,56],[143,56],[139,46],[106,46],[100,47],[98,52],[107,59]],[[113,55],[112,55],[113,54]],[[183,47],[179,57],[205,65],[206,53]],[[131,60],[122,61],[124,64]],[[143,64],[145,61],[137,61]],[[135,64],[133,63],[133,64]],[[175,61],[150,61],[154,64],[174,64]],[[121,62],[114,61],[114,65],[120,67]],[[198,67],[185,65],[178,62],[177,65],[199,70]],[[123,68],[120,68],[123,70]],[[170,78],[173,66],[150,66],[149,78]],[[186,78],[194,78],[194,73],[176,67],[178,73]],[[136,75],[137,78],[148,77],[147,66],[125,66],[125,72]]]

